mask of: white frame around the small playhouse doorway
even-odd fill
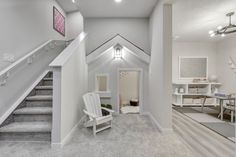
[[[139,114],[143,113],[143,69],[141,68],[118,68],[117,69],[117,109],[118,114],[120,114],[120,72],[121,71],[135,71],[139,72]]]

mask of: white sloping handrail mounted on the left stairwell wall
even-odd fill
[[[37,47],[36,49],[34,49],[33,51],[31,51],[30,53],[27,53],[25,56],[23,56],[22,58],[18,59],[16,62],[12,63],[10,66],[8,66],[6,69],[2,70],[0,72],[0,76],[4,75],[5,73],[7,73],[8,71],[12,70],[15,66],[17,66],[18,64],[20,64],[22,61],[26,60],[27,58],[29,58],[30,56],[32,56],[33,54],[35,54],[38,50],[40,50],[41,48],[43,48],[44,46],[46,46],[47,44],[49,44],[52,40],[48,40],[45,43],[43,43],[42,45],[40,45],[39,47]]]

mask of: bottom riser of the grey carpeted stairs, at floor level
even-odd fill
[[[1,133],[0,141],[51,141],[51,133]]]

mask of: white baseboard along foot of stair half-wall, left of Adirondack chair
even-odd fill
[[[73,135],[78,128],[78,126],[83,122],[83,120],[86,118],[86,116],[83,116],[77,124],[71,129],[71,131],[66,135],[66,137],[61,141],[61,143],[51,143],[52,149],[61,149],[63,148],[67,143],[70,142],[70,140],[73,138]]]

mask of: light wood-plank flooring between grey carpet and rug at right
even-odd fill
[[[235,143],[173,110],[173,128],[201,157],[234,157]]]

